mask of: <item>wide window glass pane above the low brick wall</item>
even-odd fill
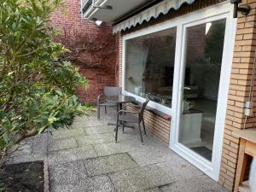
[[[171,108],[176,28],[126,41],[125,90]]]

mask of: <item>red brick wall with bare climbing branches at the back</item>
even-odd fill
[[[89,20],[82,20],[80,14],[80,0],[67,0],[63,9],[58,9],[55,14],[51,16],[51,26],[59,28],[64,32],[68,29],[69,35],[79,38],[74,33],[79,35],[87,34],[90,42],[108,42],[115,40],[109,38],[112,33],[111,26],[96,26],[94,22]],[[112,37],[112,35],[111,35]],[[62,40],[62,43],[65,44]],[[96,44],[98,46],[98,44]],[[88,52],[82,55],[82,60],[97,61],[102,63],[100,68],[81,67],[82,73],[89,81],[89,88],[87,90],[78,90],[79,98],[82,102],[96,102],[96,96],[102,93],[103,87],[106,85],[114,85],[116,82],[116,46],[113,51],[106,49],[98,49],[94,52]],[[106,55],[106,53],[109,53]],[[78,64],[78,63],[74,63]]]

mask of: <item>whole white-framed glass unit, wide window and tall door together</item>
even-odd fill
[[[236,20],[230,3],[123,36],[123,93],[172,116],[170,148],[218,180]]]

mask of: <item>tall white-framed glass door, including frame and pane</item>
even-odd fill
[[[218,15],[216,10],[190,15],[177,27],[182,35],[177,38],[181,51],[173,83],[171,148],[218,181],[236,20],[229,7],[218,9]]]

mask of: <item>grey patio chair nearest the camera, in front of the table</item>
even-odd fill
[[[147,107],[147,104],[149,102],[149,99],[147,99],[145,102],[143,102],[142,106],[138,105],[132,105],[132,104],[126,104],[125,105],[125,110],[119,110],[117,113],[117,124],[116,124],[116,129],[115,129],[115,142],[117,143],[117,138],[118,138],[118,128],[119,125],[122,126],[123,132],[125,129],[125,123],[137,123],[138,125],[138,131],[141,137],[141,141],[143,143],[143,134],[141,130],[141,122],[143,122],[143,131],[145,136],[147,135],[146,129],[145,129],[145,124],[144,124],[144,119],[143,119],[143,113],[145,111],[145,108]],[[139,110],[137,111],[127,111],[127,107],[134,107]]]

